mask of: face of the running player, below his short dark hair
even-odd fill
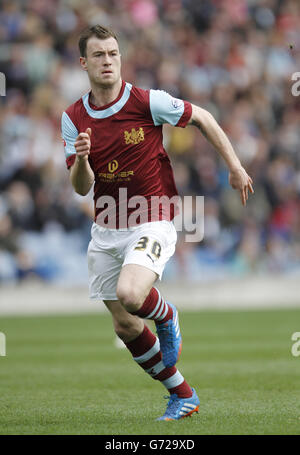
[[[86,57],[80,57],[90,81],[104,88],[112,87],[121,78],[121,55],[114,38],[100,40],[92,36],[87,41]]]

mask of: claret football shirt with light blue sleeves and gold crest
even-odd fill
[[[120,188],[127,189],[128,199],[139,195],[150,201],[151,196],[177,195],[171,163],[163,148],[162,125],[185,127],[191,114],[187,101],[124,81],[112,103],[94,106],[89,92],[63,112],[62,137],[68,168],[75,161],[78,134],[87,128],[92,130],[89,163],[95,174],[96,222],[103,210],[97,207],[99,198],[112,196],[118,206]],[[133,210],[128,209],[128,215]],[[149,209],[148,221],[154,221],[150,212]],[[159,219],[170,220],[173,216],[174,213],[162,210]],[[118,222],[117,219],[117,227]]]

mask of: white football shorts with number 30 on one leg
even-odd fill
[[[93,223],[88,247],[91,299],[118,300],[117,283],[126,264],[142,265],[161,279],[175,252],[177,232],[172,221],[154,221],[128,229],[108,229]]]

